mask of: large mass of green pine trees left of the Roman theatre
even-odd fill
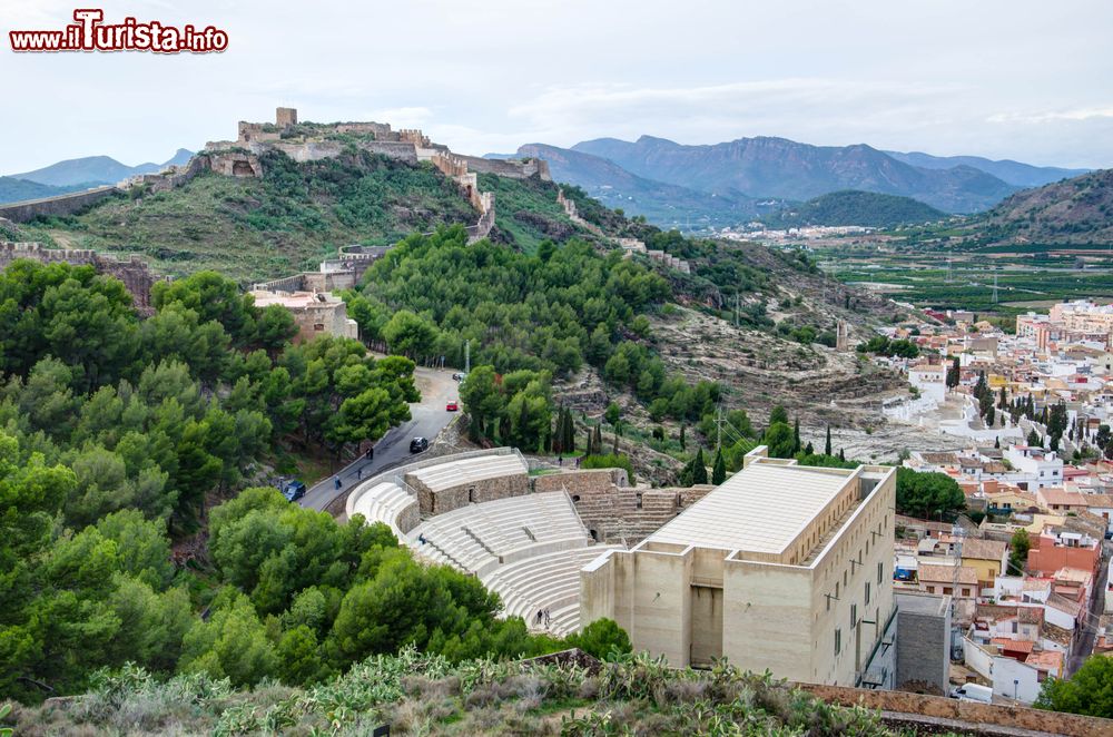
[[[268,499],[273,520],[214,512],[215,573],[204,559],[199,572],[171,567],[171,538],[280,443],[376,439],[417,396],[413,362],[373,361],[356,341],[290,346],[288,313],[256,308],[216,274],[160,284],[154,304],[140,320],[122,285],[89,267],[0,274],[2,692],[70,691],[127,660],[238,682],[280,675],[268,664],[290,662],[285,633],[258,617],[293,607],[306,576],[335,586],[377,539],[358,524],[329,532],[264,490],[240,499]],[[214,584],[230,588],[214,598]]]

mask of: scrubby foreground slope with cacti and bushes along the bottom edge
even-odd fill
[[[669,668],[648,656],[602,665],[452,664],[405,650],[309,688],[236,691],[206,676],[160,682],[130,669],[55,706],[19,708],[20,735],[837,735],[886,737],[881,715],[826,704],[771,678]],[[137,717],[141,714],[141,717]],[[624,731],[615,726],[621,724]]]

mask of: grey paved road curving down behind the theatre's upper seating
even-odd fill
[[[396,465],[410,458],[410,440],[416,435],[427,438],[430,442],[436,438],[446,424],[456,415],[447,412],[444,405],[449,400],[459,399],[457,384],[452,380],[452,370],[418,367],[414,372],[417,389],[421,391],[421,402],[410,405],[412,420],[394,428],[375,443],[375,458],[359,458],[346,465],[337,475],[343,487],[336,489],[334,476],[314,484],[299,501],[302,507],[323,510],[334,499],[344,493],[361,478],[366,479],[378,470]]]

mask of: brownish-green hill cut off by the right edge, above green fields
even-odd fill
[[[1005,242],[1113,242],[1113,169],[1016,193],[979,217],[976,227]]]

